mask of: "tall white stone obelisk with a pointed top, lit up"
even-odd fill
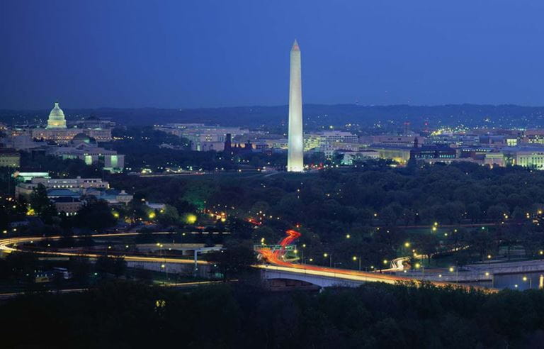
[[[302,136],[302,79],[300,78],[300,48],[297,40],[291,48],[291,71],[289,77],[289,131],[287,170],[304,170],[304,142]]]

